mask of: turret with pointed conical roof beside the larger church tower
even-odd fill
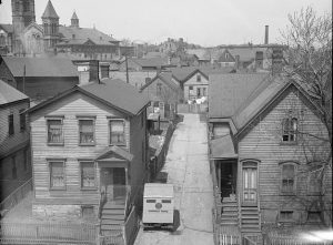
[[[52,50],[59,40],[59,17],[50,0],[42,16],[42,22],[44,29],[44,49]]]

